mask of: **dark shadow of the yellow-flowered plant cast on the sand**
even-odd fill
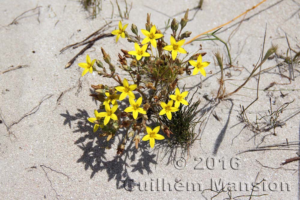
[[[82,151],[82,155],[77,160],[77,163],[83,163],[85,165],[85,170],[89,168],[92,170],[90,178],[93,178],[99,171],[105,170],[108,175],[108,181],[116,180],[116,188],[124,188],[125,183],[128,181],[133,182],[129,175],[130,172],[139,172],[140,174],[147,173],[152,174],[151,165],[156,165],[158,160],[158,152],[163,151],[165,157],[168,157],[168,165],[176,157],[177,153],[184,154],[184,151],[179,151],[177,148],[170,148],[167,142],[160,142],[160,144],[155,144],[153,149],[149,146],[149,141],[140,141],[139,148],[135,148],[135,143],[132,139],[128,139],[125,145],[125,150],[122,154],[116,154],[113,160],[107,160],[107,152],[110,148],[115,148],[113,146],[115,140],[122,139],[122,134],[124,131],[116,134],[109,142],[106,141],[106,137],[99,137],[101,132],[93,132],[93,124],[87,121],[88,115],[86,110],[77,109],[75,115],[70,115],[66,110],[66,113],[61,113],[60,115],[65,118],[64,125],[69,125],[70,129],[71,123],[77,124],[76,129],[73,133],[85,134],[79,137],[74,144],[77,145]],[[143,136],[141,136],[142,138]],[[178,152],[177,152],[178,151]],[[134,161],[138,160],[134,164]],[[123,184],[124,183],[124,184]],[[132,188],[126,188],[126,190],[131,190]]]

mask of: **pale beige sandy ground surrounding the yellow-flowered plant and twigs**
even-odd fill
[[[186,29],[195,36],[229,21],[258,2],[204,1],[202,10],[190,11],[190,19],[195,15]],[[124,6],[123,1],[120,4]],[[36,5],[41,6],[39,16],[34,10],[19,19],[17,24],[8,25],[16,16]],[[129,19],[124,22],[144,28],[146,14],[151,12],[152,21],[163,28],[169,17],[180,20],[186,8],[196,5],[197,1],[134,0]],[[119,20],[116,5],[114,8],[110,31],[114,30]],[[249,75],[253,64],[259,59],[266,23],[266,48],[278,44],[278,53],[285,53],[288,48],[286,32],[291,47],[299,51],[300,44],[296,39],[300,38],[299,10],[297,0],[268,0],[247,13],[239,28],[240,19],[224,27],[218,36],[226,41],[238,28],[231,35],[230,52],[233,64],[244,67],[241,72],[230,68],[225,73],[230,73],[231,79],[244,79]],[[77,63],[85,61],[86,53],[101,59],[100,47],[104,47],[117,64],[119,49],[133,50],[133,45],[126,40],[120,40],[116,45],[114,37],[104,38],[79,56],[68,69],[64,69],[64,65],[80,49],[68,49],[62,54],[59,50],[96,31],[105,24],[104,19],[110,21],[111,11],[110,2],[104,1],[101,14],[92,20],[88,19],[88,13],[77,1],[1,1],[0,71],[10,69],[12,65],[28,67],[0,74],[0,199],[211,199],[216,193],[206,189],[220,190],[221,182],[224,187],[235,183],[238,191],[232,191],[232,198],[244,195],[248,197],[236,199],[249,199],[250,184],[261,181],[253,195],[268,195],[252,199],[299,199],[298,161],[283,166],[286,169],[272,169],[279,168],[285,159],[295,157],[297,151],[236,154],[257,145],[276,144],[286,139],[298,141],[300,93],[282,91],[286,94],[284,96],[280,91],[260,91],[259,100],[248,109],[250,121],[255,120],[257,113],[267,112],[270,97],[274,109],[293,99],[294,102],[280,113],[286,124],[276,128],[277,136],[272,135],[271,131],[255,135],[238,118],[240,104],[247,106],[251,103],[256,97],[255,90],[242,89],[238,92],[240,95],[220,103],[208,102],[203,97],[217,92],[220,73],[213,61],[213,51],[220,49],[226,58],[222,43],[201,43],[203,51],[208,53],[203,59],[211,61],[207,69],[212,74],[201,79],[200,76],[192,76],[180,82],[180,85],[186,83],[191,91],[195,91],[202,80],[197,96],[202,100],[202,113],[206,111],[202,127],[196,129],[197,132],[201,129],[201,140],[194,143],[188,159],[186,154],[180,154],[180,149],[171,151],[164,141],[154,149],[149,147],[148,142],[142,142],[138,150],[134,149],[132,142],[128,142],[125,154],[119,156],[116,155],[116,148],[121,137],[115,137],[106,149],[105,139],[93,133],[92,125],[86,121],[97,108],[88,94],[90,84],[114,83],[97,74],[79,79],[82,69]],[[199,44],[195,42],[185,48],[195,51]],[[275,59],[272,59],[263,68],[275,64]],[[282,73],[289,76],[285,69],[281,68]],[[119,69],[117,73],[124,74]],[[274,85],[270,89],[300,89],[298,75],[295,71],[295,80],[291,84]],[[236,88],[229,82],[240,83],[226,82],[226,91]],[[289,80],[278,75],[276,67],[269,73],[263,73],[260,88],[267,87],[271,82],[289,83]],[[256,84],[257,79],[253,79],[247,87],[256,88]],[[213,117],[214,112],[220,121]],[[179,157],[187,159],[183,169],[174,166],[174,159]],[[179,161],[179,165],[182,164]],[[140,187],[128,187],[135,183],[140,183]],[[193,191],[192,183],[196,191]],[[245,184],[248,184],[248,191]],[[169,186],[172,191],[169,191]],[[229,194],[224,192],[214,199],[230,199]]]

